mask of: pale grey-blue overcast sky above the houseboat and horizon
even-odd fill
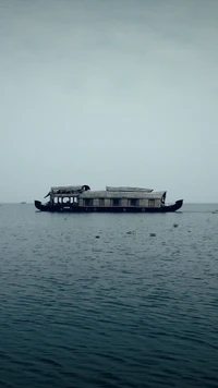
[[[217,0],[0,0],[0,202],[218,203]]]

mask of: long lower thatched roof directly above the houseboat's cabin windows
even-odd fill
[[[80,195],[80,198],[135,198],[135,199],[161,199],[166,196],[166,191],[162,192],[110,192],[110,191],[87,191]]]

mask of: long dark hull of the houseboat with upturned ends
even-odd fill
[[[43,205],[41,202],[35,201],[35,207],[40,211],[50,213],[172,213],[179,210],[183,205],[183,199],[177,201],[173,205],[165,205],[161,207],[136,207],[136,206],[66,206],[66,205]]]

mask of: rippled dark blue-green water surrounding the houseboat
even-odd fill
[[[217,208],[2,205],[0,387],[217,387]]]

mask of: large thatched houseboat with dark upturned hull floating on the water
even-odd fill
[[[166,204],[166,191],[153,189],[111,187],[92,191],[86,184],[80,186],[55,186],[45,196],[49,202],[35,201],[40,211],[69,213],[168,213],[180,209],[183,199]]]

